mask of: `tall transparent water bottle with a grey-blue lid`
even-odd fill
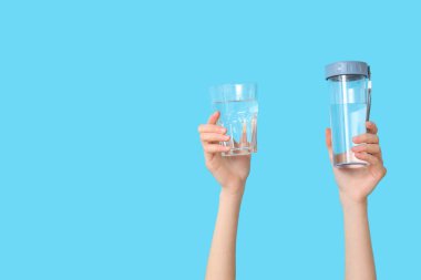
[[[351,148],[352,137],[367,132],[370,117],[370,66],[360,61],[340,61],[326,66],[330,92],[330,127],[333,166],[358,167],[368,163],[358,159]]]

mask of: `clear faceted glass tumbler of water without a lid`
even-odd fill
[[[210,87],[213,110],[220,112],[218,125],[227,128],[230,151],[223,156],[257,152],[257,86],[254,83],[222,84]]]

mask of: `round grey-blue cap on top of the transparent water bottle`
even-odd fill
[[[339,61],[326,66],[326,79],[338,75],[369,76],[369,65],[362,61]]]

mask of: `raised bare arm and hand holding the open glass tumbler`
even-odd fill
[[[250,170],[250,156],[223,157],[229,147],[219,145],[228,141],[226,129],[216,125],[219,113],[214,113],[198,132],[204,148],[206,167],[222,186],[219,209],[206,269],[206,280],[235,279],[237,225],[246,179]]]

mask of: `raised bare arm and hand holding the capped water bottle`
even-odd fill
[[[374,258],[371,248],[367,212],[367,197],[386,175],[379,146],[378,128],[367,122],[368,133],[353,138],[356,157],[369,163],[360,168],[336,168],[335,178],[343,210],[345,279],[376,280]],[[326,131],[326,144],[332,159],[331,132]]]

